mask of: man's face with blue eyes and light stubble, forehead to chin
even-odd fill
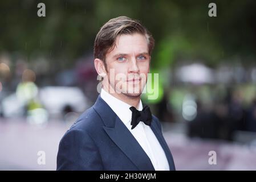
[[[147,39],[141,34],[120,35],[115,43],[116,46],[105,56],[108,73],[103,81],[104,87],[107,84],[114,94],[139,97],[149,73]]]

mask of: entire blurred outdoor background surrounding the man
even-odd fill
[[[143,103],[176,169],[256,170],[255,12],[254,0],[0,1],[0,169],[56,169],[60,139],[98,95],[95,36],[126,15],[156,40],[159,97]]]

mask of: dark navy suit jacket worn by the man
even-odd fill
[[[153,115],[151,129],[161,144],[170,170],[172,154]],[[153,171],[151,160],[111,107],[99,96],[59,143],[57,170]]]

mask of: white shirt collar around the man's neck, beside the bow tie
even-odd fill
[[[112,96],[108,92],[106,92],[103,88],[101,88],[100,97],[107,102],[107,104],[111,107],[111,109],[116,113],[116,115],[121,119],[121,121],[124,122],[124,124],[127,124],[128,122],[131,122],[132,119],[132,111],[129,109],[131,105],[119,100],[118,98]],[[139,109],[142,110],[143,105],[140,100],[139,102]]]

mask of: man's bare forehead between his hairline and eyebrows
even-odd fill
[[[108,51],[109,55],[115,53],[136,54],[148,52],[148,42],[144,35],[135,33],[117,36],[115,46]]]

